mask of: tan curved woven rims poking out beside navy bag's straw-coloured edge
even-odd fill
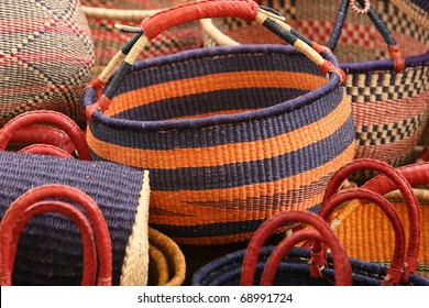
[[[147,285],[180,286],[186,278],[186,262],[180,248],[153,228],[148,228],[148,243]]]

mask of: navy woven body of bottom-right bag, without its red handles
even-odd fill
[[[254,285],[258,285],[267,258],[275,246],[263,246],[258,256]],[[193,286],[239,286],[243,258],[246,250],[234,251],[228,255],[216,258],[198,270],[191,280]],[[327,267],[322,270],[326,279],[310,278],[308,261],[311,251],[294,248],[282,260],[274,280],[276,286],[331,286],[334,279],[332,258],[328,255]],[[386,275],[386,266],[376,263],[362,262],[350,258],[353,286],[378,286]],[[429,280],[419,275],[411,274],[410,280],[415,285],[429,285]]]

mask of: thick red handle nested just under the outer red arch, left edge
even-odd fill
[[[19,131],[14,132],[10,143],[43,143],[61,147],[67,153],[73,153],[76,151],[76,147],[73,145],[70,138],[64,131],[52,127],[31,125],[28,128],[21,128]]]

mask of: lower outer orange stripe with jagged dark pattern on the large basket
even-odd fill
[[[246,200],[248,198],[262,199],[264,197],[273,197],[276,194],[285,194],[289,189],[299,189],[305,186],[311,185],[312,182],[316,182],[329,174],[332,174],[341,166],[351,162],[354,155],[354,143],[351,144],[341,155],[332,160],[331,162],[301,173],[288,178],[284,178],[271,183],[260,183],[241,187],[232,187],[227,189],[207,189],[207,190],[180,190],[180,191],[157,191],[152,190],[151,193],[151,206],[160,209],[165,209],[166,211],[172,211],[178,213],[175,217],[172,216],[162,216],[162,215],[150,215],[150,220],[153,223],[162,224],[179,224],[179,226],[195,226],[197,223],[213,223],[213,222],[231,222],[239,221],[243,219],[244,208],[237,209],[219,209],[210,208],[193,202],[219,202],[223,201],[231,205],[237,200]],[[305,189],[310,189],[307,187]],[[323,197],[324,193],[314,195],[307,200],[292,200],[292,204],[284,202],[280,209],[270,210],[263,208],[258,211],[249,211],[252,213],[252,219],[265,219],[272,216],[275,212],[288,209],[308,209],[319,202]],[[302,198],[302,197],[301,197]],[[262,202],[261,202],[262,204]],[[241,215],[240,215],[241,213]],[[179,217],[184,215],[183,217]],[[233,216],[237,215],[237,216]],[[238,217],[241,219],[238,219]],[[191,216],[191,217],[189,217]],[[249,217],[246,218],[250,219]]]

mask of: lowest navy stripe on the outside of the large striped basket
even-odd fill
[[[307,209],[308,211],[318,213],[320,205]],[[228,237],[240,233],[254,232],[264,222],[264,219],[234,221],[234,222],[217,222],[208,224],[195,226],[173,226],[150,223],[150,226],[160,232],[173,238],[202,238],[202,237]]]

